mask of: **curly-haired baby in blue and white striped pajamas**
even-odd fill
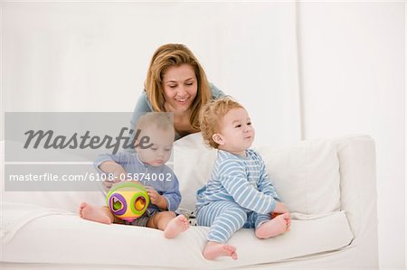
[[[200,118],[204,141],[217,148],[209,181],[197,191],[198,225],[211,227],[203,251],[205,259],[237,259],[226,242],[240,228],[255,228],[260,239],[285,233],[289,209],[279,200],[260,155],[249,149],[254,129],[248,112],[231,98],[203,107]],[[272,214],[279,214],[272,218]]]

